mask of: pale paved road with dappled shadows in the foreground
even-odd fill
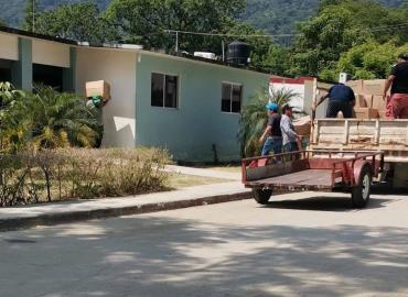
[[[310,197],[0,233],[0,296],[408,296],[408,197]]]

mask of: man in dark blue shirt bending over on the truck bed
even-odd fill
[[[322,97],[314,106],[316,109],[325,99],[329,99],[326,118],[337,118],[341,111],[345,119],[353,118],[353,107],[355,106],[355,95],[351,87],[339,84],[330,88],[326,96]]]

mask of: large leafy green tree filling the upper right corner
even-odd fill
[[[366,42],[408,42],[408,9],[389,9],[372,0],[324,0],[319,14],[300,25],[292,75],[333,70],[341,55]],[[405,25],[404,25],[405,24]]]

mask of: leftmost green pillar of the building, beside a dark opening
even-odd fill
[[[32,90],[33,86],[33,64],[32,64],[32,41],[19,38],[19,61],[13,63],[12,68],[13,85],[26,91]]]

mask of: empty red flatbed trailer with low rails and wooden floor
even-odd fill
[[[351,193],[352,204],[363,208],[372,184],[380,180],[383,152],[301,151],[243,160],[243,183],[258,204],[269,201],[273,189]]]

